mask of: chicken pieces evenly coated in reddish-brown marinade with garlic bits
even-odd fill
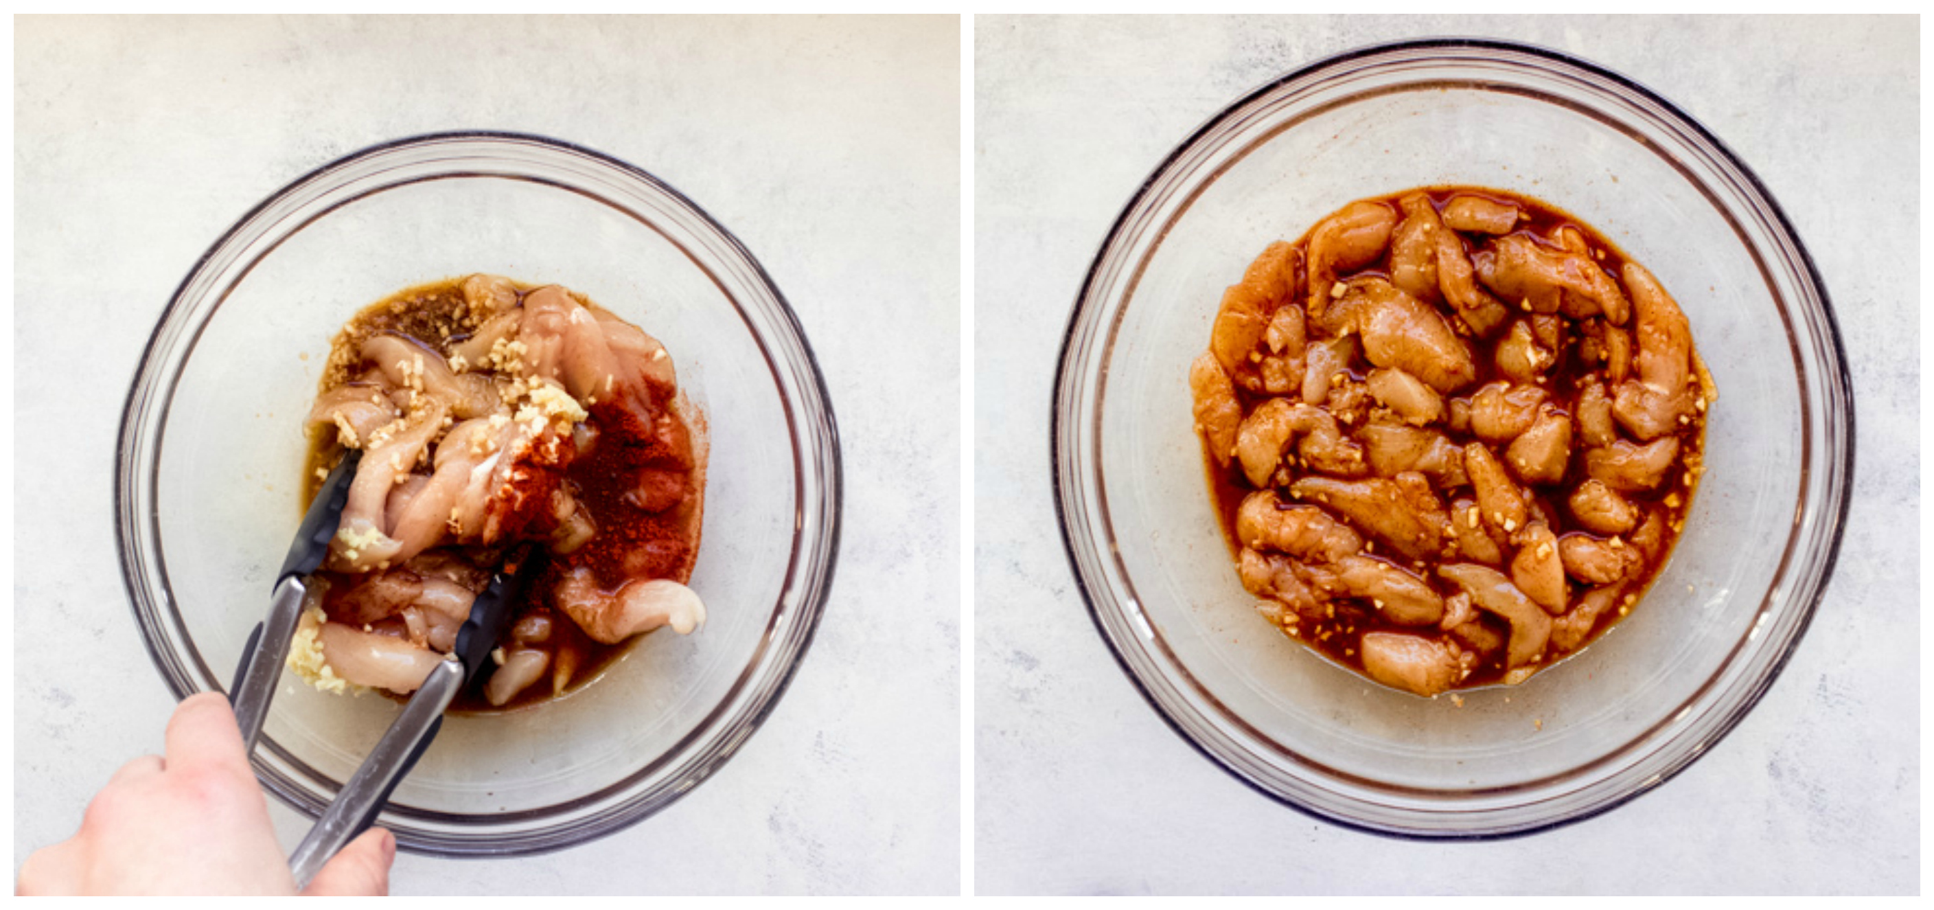
[[[1418,695],[1524,682],[1626,616],[1685,529],[1717,401],[1650,271],[1470,186],[1269,244],[1189,387],[1257,612]]]

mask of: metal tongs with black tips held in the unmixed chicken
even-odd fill
[[[296,542],[282,561],[282,571],[277,575],[269,618],[255,625],[242,651],[242,664],[236,666],[234,685],[228,691],[246,751],[255,751],[263,718],[269,714],[269,701],[282,678],[282,662],[288,660],[296,623],[302,620],[308,575],[319,569],[323,558],[329,556],[329,540],[337,536],[342,523],[342,507],[348,503],[350,480],[356,478],[360,461],[362,451],[350,449],[315,494],[309,513],[304,515],[302,529],[296,532]],[[437,738],[437,730],[443,728],[443,711],[451,707],[451,699],[464,685],[484,682],[497,668],[489,654],[509,625],[511,608],[522,600],[518,581],[528,581],[530,573],[518,573],[518,569],[528,556],[528,544],[516,548],[491,577],[489,587],[470,604],[470,618],[456,631],[456,649],[410,695],[402,714],[389,724],[375,749],[342,784],[329,809],[290,854],[288,865],[296,875],[296,887],[306,887],[337,850],[375,823],[389,794],[396,790],[396,782],[416,767],[416,759]]]

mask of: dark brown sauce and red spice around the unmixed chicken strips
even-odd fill
[[[447,327],[466,306],[462,281],[458,277],[410,287],[358,312],[348,321],[344,335],[338,335],[333,343],[335,350],[325,366],[319,391],[342,385],[350,376],[367,366],[354,356],[354,347],[369,335],[404,335],[449,358],[453,345],[470,337],[468,333],[447,333]],[[538,285],[516,283],[518,304],[536,288]],[[590,300],[580,298],[580,302],[592,312],[601,312]],[[634,412],[609,401],[588,409],[586,426],[596,434],[596,445],[590,447],[588,455],[576,457],[569,465],[563,486],[576,498],[580,509],[590,511],[598,532],[571,554],[553,554],[540,546],[534,556],[536,561],[526,569],[534,573],[526,604],[513,618],[513,623],[526,616],[543,614],[551,618],[551,639],[547,645],[553,649],[553,664],[559,652],[574,651],[580,654],[571,683],[565,691],[553,691],[547,672],[545,678],[540,678],[501,707],[484,701],[482,685],[472,685],[456,695],[449,711],[501,713],[565,697],[594,682],[636,643],[636,639],[617,645],[598,643],[555,606],[551,592],[557,589],[563,573],[572,567],[590,567],[605,591],[615,591],[629,577],[640,575],[673,579],[681,585],[690,581],[692,563],[696,561],[702,501],[698,496],[690,496],[690,492],[702,488],[704,476],[692,457],[690,428],[677,409],[667,407],[677,389],[658,385],[650,378],[646,378],[646,383],[650,401],[642,403],[642,410],[654,416],[654,426],[642,424]],[[304,465],[302,486],[304,511],[308,511],[309,501],[321,490],[329,470],[342,461],[342,453],[344,447],[337,441],[333,426],[315,426],[309,430],[309,455]],[[654,482],[646,490],[648,500],[656,501],[640,503],[636,498],[627,498],[627,494],[636,490],[634,484],[627,484],[627,478],[636,476],[642,469],[654,470]],[[427,469],[420,465],[418,472],[427,472]],[[671,498],[677,498],[677,505],[663,507],[663,501]],[[658,505],[663,511],[646,511],[644,505]],[[528,531],[542,536],[555,523],[547,515],[542,515]],[[439,546],[425,550],[425,554],[453,554],[476,565],[476,587],[482,587],[484,579],[505,558],[507,546]],[[340,622],[340,592],[352,587],[354,577],[331,571],[319,571],[317,575],[331,583],[331,594],[325,594],[323,610],[331,620]],[[398,620],[383,620],[383,623],[400,625]],[[383,695],[395,701],[408,699],[406,695],[389,691],[383,691]]]

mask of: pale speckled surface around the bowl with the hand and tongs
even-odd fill
[[[636,163],[760,258],[837,410],[845,532],[803,668],[723,771],[569,852],[402,856],[395,891],[957,891],[957,19],[17,19],[14,72],[14,556],[58,567],[14,583],[15,867],[172,707],[110,515],[162,304],[288,180],[482,128]],[[308,823],[273,811],[294,846]]]

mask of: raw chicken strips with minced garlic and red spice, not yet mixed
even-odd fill
[[[636,635],[694,631],[694,416],[663,345],[557,285],[470,275],[364,308],[308,420],[304,503],[348,449],[364,457],[290,664],[323,689],[414,691],[514,548],[528,596],[454,711],[545,701]]]

